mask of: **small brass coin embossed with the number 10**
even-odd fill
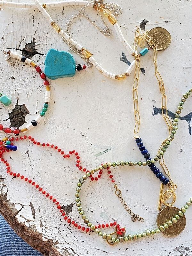
[[[151,37],[158,51],[166,49],[171,44],[171,35],[165,28],[152,28],[148,36]]]

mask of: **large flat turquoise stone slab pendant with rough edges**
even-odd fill
[[[75,75],[75,60],[69,52],[50,49],[47,52],[44,73],[50,79],[71,77]]]

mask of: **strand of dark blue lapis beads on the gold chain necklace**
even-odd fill
[[[150,154],[148,153],[148,150],[145,149],[145,146],[143,146],[143,142],[141,138],[137,138],[135,140],[137,142],[137,146],[139,147],[139,150],[141,151],[141,154],[146,158],[146,160],[151,160]],[[156,177],[163,182],[164,185],[167,185],[169,183],[169,179],[166,178],[162,172],[159,171],[159,169],[156,167],[155,164],[151,163],[148,165],[151,171],[156,175]]]

